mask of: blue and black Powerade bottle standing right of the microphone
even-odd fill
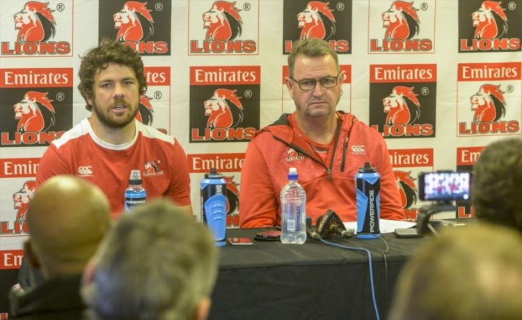
[[[357,200],[357,237],[375,239],[381,235],[379,218],[381,216],[381,175],[377,169],[365,163],[355,175]]]

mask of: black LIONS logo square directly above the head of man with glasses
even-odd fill
[[[351,1],[296,1],[283,4],[283,54],[298,39],[328,41],[338,54],[351,53]]]

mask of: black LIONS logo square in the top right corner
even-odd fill
[[[521,5],[520,1],[459,1],[459,52],[521,51],[517,21]]]

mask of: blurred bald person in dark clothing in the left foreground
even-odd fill
[[[9,319],[81,319],[81,273],[111,227],[109,201],[94,184],[58,175],[36,191],[27,224],[24,256],[44,280],[10,292]]]

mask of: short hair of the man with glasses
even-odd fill
[[[340,72],[339,59],[337,52],[330,46],[330,44],[319,38],[310,38],[304,40],[296,40],[292,45],[292,51],[288,55],[288,77],[294,77],[295,59],[299,54],[307,57],[317,56],[332,56],[335,61],[337,71]]]

